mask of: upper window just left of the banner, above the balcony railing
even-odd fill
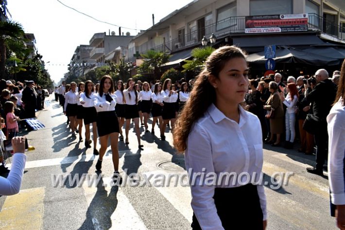
[[[236,19],[230,17],[236,17],[237,8],[236,1],[217,10],[217,31],[226,27],[236,25]]]

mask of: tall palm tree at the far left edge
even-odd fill
[[[0,21],[0,77],[5,77],[7,42],[23,42],[24,29],[21,24],[13,21]],[[24,45],[24,43],[23,43]]]

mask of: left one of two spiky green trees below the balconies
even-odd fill
[[[151,73],[153,74],[155,79],[159,79],[161,74],[161,67],[169,61],[171,55],[155,50],[149,50],[147,53],[141,54],[141,57],[144,58],[144,61],[139,66],[138,73]]]

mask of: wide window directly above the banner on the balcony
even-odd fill
[[[293,13],[293,0],[250,0],[250,15],[287,15]]]

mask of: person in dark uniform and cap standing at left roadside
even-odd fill
[[[33,87],[34,81],[25,81],[26,87],[23,90],[21,100],[24,104],[25,118],[35,118],[37,108],[37,93]]]

